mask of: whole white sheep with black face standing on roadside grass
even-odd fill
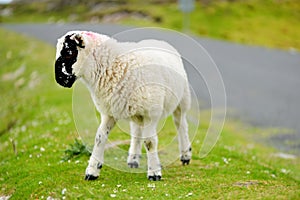
[[[189,164],[192,149],[186,115],[191,97],[183,62],[174,47],[158,40],[118,42],[95,32],[69,31],[58,39],[56,48],[56,82],[70,88],[80,79],[101,114],[85,180],[99,177],[105,142],[120,119],[130,123],[129,167],[139,167],[144,143],[147,177],[161,180],[156,128],[160,119],[171,114],[181,162]]]

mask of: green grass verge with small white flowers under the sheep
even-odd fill
[[[253,132],[263,130],[227,121],[213,151],[200,159],[197,155],[209,119],[205,114],[199,134],[193,140],[191,164],[181,166],[177,159],[165,166],[162,181],[149,182],[145,172],[127,173],[107,165],[98,180],[84,181],[88,156],[75,155],[62,161],[66,149],[76,152],[81,146],[74,143],[78,136],[72,120],[72,90],[59,87],[53,78],[54,47],[3,29],[0,38],[0,196],[11,195],[11,199],[111,199],[113,195],[116,199],[300,198],[299,158],[275,157],[275,149],[256,143]],[[20,66],[26,66],[23,74],[8,76]],[[172,127],[167,121],[160,144],[166,144],[164,136],[174,135]],[[111,138],[129,139],[129,136],[115,128]],[[108,152],[106,158],[110,159]],[[124,151],[124,158],[118,162],[126,165],[126,155]]]

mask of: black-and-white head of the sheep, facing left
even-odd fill
[[[55,61],[55,80],[63,87],[72,87],[77,77],[73,65],[77,61],[78,50],[85,48],[80,34],[67,33],[57,43]]]

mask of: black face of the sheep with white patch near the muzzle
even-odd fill
[[[55,80],[63,87],[72,87],[76,81],[76,76],[72,72],[72,65],[77,61],[78,49],[80,46],[75,40],[71,39],[72,35],[67,35],[60,51],[60,56],[55,62]],[[84,48],[83,46],[80,46]]]

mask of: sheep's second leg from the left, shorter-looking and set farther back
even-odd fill
[[[138,168],[140,165],[142,132],[138,124],[130,122],[131,142],[128,152],[127,164],[130,168]]]

